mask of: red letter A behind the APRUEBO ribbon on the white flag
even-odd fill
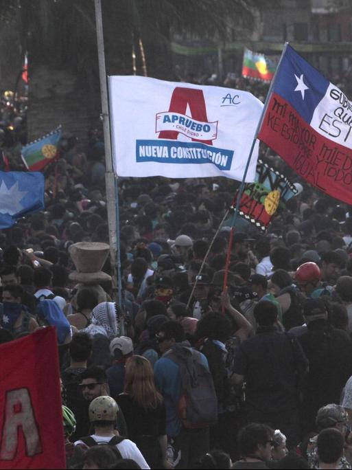
[[[191,117],[194,120],[209,122],[207,117],[207,108],[205,107],[205,100],[202,90],[193,88],[176,87],[172,93],[169,113],[184,114],[187,110],[187,104],[191,111]],[[159,139],[172,139],[176,140],[178,131],[161,131]],[[212,140],[193,139],[193,142],[202,142],[203,144],[213,145]]]

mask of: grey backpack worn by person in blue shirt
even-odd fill
[[[202,363],[202,356],[181,344],[175,344],[165,357],[180,370],[182,394],[178,401],[178,416],[188,429],[208,427],[218,421],[218,399],[213,378]]]

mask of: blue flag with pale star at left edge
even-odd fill
[[[0,171],[0,229],[44,209],[45,178],[40,172]]]

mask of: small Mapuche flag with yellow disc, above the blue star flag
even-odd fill
[[[58,158],[58,142],[61,138],[61,127],[45,135],[41,139],[34,140],[21,150],[22,160],[27,170],[40,171]]]

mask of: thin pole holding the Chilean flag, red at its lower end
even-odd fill
[[[233,220],[232,220],[232,223],[231,223],[230,239],[228,240],[228,250],[227,250],[227,254],[226,254],[225,273],[224,273],[224,291],[227,287],[228,267],[230,266],[230,261],[231,261],[231,249],[232,249],[232,245],[233,245],[233,234],[235,232],[235,223],[237,222],[237,217],[238,217],[238,213],[239,213],[239,203],[241,202],[242,194],[244,192],[244,186],[246,184],[246,176],[247,176],[248,168],[249,168],[249,165],[250,165],[250,159],[252,158],[252,155],[253,155],[253,150],[255,148],[255,142],[257,140],[257,135],[259,134],[261,125],[263,124],[264,115],[266,114],[266,110],[268,109],[268,104],[269,104],[269,101],[270,101],[270,96],[272,94],[272,89],[273,89],[274,83],[277,79],[277,71],[279,70],[279,67],[281,65],[281,61],[283,59],[283,56],[286,52],[287,47],[288,47],[288,43],[285,43],[285,45],[283,47],[283,50],[281,52],[281,57],[280,57],[279,63],[277,64],[277,69],[275,71],[274,77],[272,78],[272,82],[270,83],[268,94],[267,94],[266,100],[264,102],[263,111],[261,111],[261,116],[259,118],[257,129],[255,131],[255,136],[253,137],[252,146],[250,147],[250,152],[249,152],[249,155],[248,155],[246,168],[244,169],[244,175],[243,175],[243,178],[242,178],[242,181],[241,181],[241,185],[239,186],[239,191],[237,193],[235,212],[233,213]]]

